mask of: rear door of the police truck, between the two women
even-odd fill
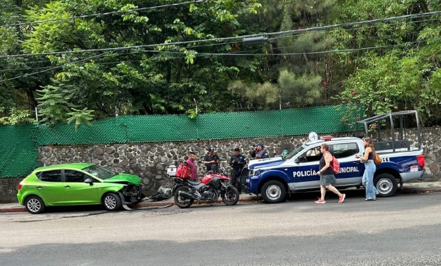
[[[340,173],[336,175],[336,186],[348,186],[361,184],[363,173],[365,173],[365,164],[360,163],[356,158],[361,155],[357,142],[347,142],[329,145],[329,151],[340,162]]]

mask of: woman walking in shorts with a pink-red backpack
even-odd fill
[[[334,175],[334,170],[331,167],[332,155],[329,153],[328,144],[320,145],[320,152],[322,153],[322,159],[318,166],[317,175],[320,175],[320,199],[315,201],[316,203],[326,203],[325,195],[326,189],[338,195],[338,203],[345,201],[346,194],[340,193],[334,185],[337,183],[336,176]]]

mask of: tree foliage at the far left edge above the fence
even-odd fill
[[[23,23],[25,7],[45,0],[32,1],[1,1],[0,25]],[[25,33],[32,27],[21,25],[0,27],[0,56],[22,54],[21,44]],[[26,76],[50,67],[50,62],[41,57],[6,57],[0,58],[0,117],[8,117],[14,113],[31,114],[37,107],[34,93],[48,80],[48,72]],[[19,78],[20,77],[20,78]]]

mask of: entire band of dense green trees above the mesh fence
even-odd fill
[[[170,3],[0,2],[0,25]],[[368,115],[418,109],[426,122],[437,124],[439,16],[272,35],[263,45],[194,42],[435,10],[441,10],[438,1],[210,0],[0,27],[0,55],[156,45],[0,58],[1,116],[10,116],[6,110],[32,112],[39,106],[43,122],[76,124],[114,115],[185,113],[195,118],[195,101],[198,113],[349,102],[363,106]],[[181,41],[189,43],[162,45]],[[354,51],[320,54],[329,49]]]

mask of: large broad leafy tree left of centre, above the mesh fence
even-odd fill
[[[168,1],[150,1],[149,6]],[[48,21],[34,26],[23,42],[26,52],[59,52],[134,45],[192,41],[245,34],[237,18],[253,14],[256,1],[207,1],[172,8],[127,12],[87,19]],[[99,13],[145,7],[114,1],[52,1],[28,11],[28,20],[60,19],[82,13]],[[221,27],[219,26],[221,25]],[[232,96],[225,91],[229,75],[238,71],[221,53],[233,45],[158,45],[121,52],[50,56],[61,65],[54,75],[63,85],[75,87],[71,102],[96,110],[96,118],[115,114],[194,113],[225,108]],[[81,61],[81,62],[80,62]],[[44,91],[42,93],[46,93]],[[49,115],[47,113],[46,115]],[[54,118],[54,117],[52,117]]]

